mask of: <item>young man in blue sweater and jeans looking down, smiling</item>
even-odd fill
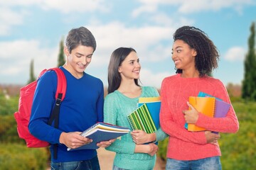
[[[95,149],[67,150],[92,142],[80,136],[80,132],[103,121],[102,81],[85,73],[95,49],[96,41],[90,30],[84,27],[70,30],[64,48],[67,61],[60,67],[67,79],[67,90],[60,106],[58,129],[48,125],[55,104],[57,75],[53,71],[46,72],[38,81],[28,128],[32,135],[51,144],[51,169],[100,169]],[[97,145],[107,147],[112,142],[114,140]],[[54,144],[58,144],[56,159]]]

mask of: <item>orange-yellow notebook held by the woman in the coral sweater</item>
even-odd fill
[[[199,113],[213,118],[215,109],[215,98],[190,96],[189,103],[191,103],[191,105],[196,108],[196,111],[198,111]],[[189,108],[189,110],[191,110],[191,108]],[[206,129],[198,127],[195,124],[188,123],[188,131],[196,132],[203,130]]]

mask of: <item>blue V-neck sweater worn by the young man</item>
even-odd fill
[[[52,162],[73,162],[92,159],[97,155],[95,149],[67,151],[65,145],[60,145],[61,132],[82,132],[97,121],[103,121],[104,89],[100,79],[84,73],[80,79],[75,79],[63,67],[67,79],[67,91],[60,106],[59,128],[48,125],[48,118],[55,104],[57,76],[50,71],[39,79],[33,98],[29,130],[32,135],[51,144],[58,144],[58,158]],[[50,147],[53,155],[53,147]]]

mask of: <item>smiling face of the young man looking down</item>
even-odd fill
[[[68,57],[66,62],[68,71],[76,78],[82,77],[87,65],[90,64],[92,60],[93,48],[78,45],[71,53],[68,52],[67,47],[65,47],[64,52]]]

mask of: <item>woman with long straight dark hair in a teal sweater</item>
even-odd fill
[[[137,108],[139,97],[159,96],[158,91],[149,86],[139,86],[141,65],[137,52],[132,48],[119,47],[112,52],[108,66],[108,95],[104,103],[104,121],[124,127],[131,126],[127,115]],[[116,152],[114,170],[154,169],[157,145],[154,142],[164,140],[167,135],[159,128],[154,133],[146,134],[142,130],[116,140],[107,150]],[[148,143],[144,145],[144,143]]]

